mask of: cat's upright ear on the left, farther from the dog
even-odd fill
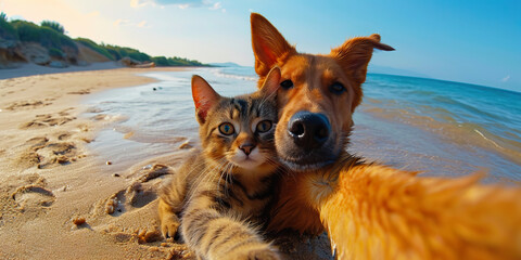
[[[220,99],[220,95],[198,75],[192,77],[192,98],[195,103],[195,114],[199,123],[206,121],[206,116],[212,106],[214,106]]]

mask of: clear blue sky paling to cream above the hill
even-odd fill
[[[300,52],[377,32],[396,51],[376,52],[374,67],[521,92],[519,0],[0,0],[0,11],[59,22],[73,38],[244,66],[257,12]]]

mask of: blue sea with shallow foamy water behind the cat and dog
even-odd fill
[[[198,145],[190,79],[221,95],[256,89],[253,67],[143,73],[145,86],[107,90],[85,117],[107,119],[91,147],[111,161],[142,161]],[[357,107],[351,153],[424,176],[480,171],[484,182],[521,181],[521,93],[425,78],[369,74]]]

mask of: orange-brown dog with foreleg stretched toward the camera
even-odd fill
[[[373,49],[394,50],[379,35],[306,54],[259,14],[251,29],[258,86],[281,69],[275,139],[289,172],[268,230],[327,231],[339,259],[521,259],[519,187],[420,178],[347,154]]]

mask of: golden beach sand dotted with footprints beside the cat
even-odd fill
[[[41,74],[30,67],[11,75]],[[91,93],[154,81],[140,73],[178,69],[187,68],[0,80],[0,259],[194,259],[161,236],[156,214],[157,188],[189,150],[120,167],[88,147],[110,118],[81,116]],[[280,238],[291,259],[328,258],[326,237],[294,237]]]

